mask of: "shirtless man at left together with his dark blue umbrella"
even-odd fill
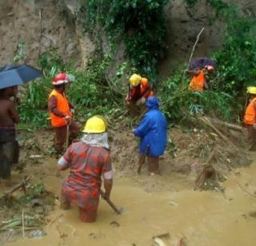
[[[16,103],[18,85],[42,74],[30,65],[5,66],[0,69],[0,177],[10,182],[10,168],[18,162],[15,124],[19,122]],[[14,97],[14,101],[10,100]]]

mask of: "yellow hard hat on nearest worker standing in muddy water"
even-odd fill
[[[83,133],[104,133],[106,132],[106,120],[101,116],[90,117],[86,121],[85,128],[82,130]]]

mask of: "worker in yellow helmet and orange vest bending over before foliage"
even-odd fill
[[[144,104],[146,98],[153,97],[154,91],[146,77],[134,73],[129,79],[129,89],[126,95],[126,104],[131,113],[139,114],[138,103]]]

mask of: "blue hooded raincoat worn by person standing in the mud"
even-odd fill
[[[146,147],[149,146],[147,156],[159,157],[166,149],[166,117],[158,109],[159,103],[156,97],[149,97],[146,107],[148,112],[134,129],[134,135],[141,138],[140,153],[146,153]]]

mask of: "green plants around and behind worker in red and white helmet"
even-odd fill
[[[44,77],[26,85],[22,103],[19,105],[22,123],[32,128],[46,127],[47,117],[50,116],[47,103],[53,89],[52,80],[59,72],[71,73],[75,77],[74,82],[66,85],[66,94],[76,108],[76,120],[84,122],[93,114],[116,113],[119,110],[116,105],[120,104],[126,93],[119,79],[126,70],[126,63],[120,65],[118,73],[110,80],[106,76],[110,62],[112,60],[107,55],[101,61],[95,56],[89,62],[88,69],[73,69],[54,52],[42,54],[38,65]]]

